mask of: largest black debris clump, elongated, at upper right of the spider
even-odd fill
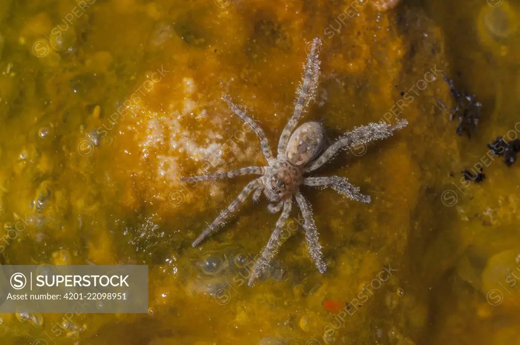
[[[459,126],[457,126],[457,134],[462,135],[462,133],[466,133],[467,137],[471,139],[471,130],[477,128],[482,103],[475,102],[474,94],[470,95],[464,91],[458,91],[455,88],[453,79],[448,78],[444,73],[443,78],[448,83],[451,95],[456,102],[456,106],[450,108],[450,120],[458,116]]]

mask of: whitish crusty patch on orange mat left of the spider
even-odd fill
[[[183,165],[192,165],[188,164],[190,162],[187,159],[199,166],[199,172],[192,172],[197,174],[211,174],[252,165],[252,158],[260,152],[254,134],[244,133],[242,122],[232,115],[215,116],[217,109],[201,109],[201,104],[212,103],[212,100],[204,100],[203,95],[197,93],[197,86],[192,78],[183,78],[182,85],[183,100],[171,104],[167,113],[146,113],[139,109],[141,114],[145,113],[141,117],[148,119],[146,133],[139,133],[141,136],[145,134],[139,143],[141,155],[143,159],[150,156],[157,158],[158,179],[168,185],[178,185],[179,178],[186,174]],[[187,119],[198,119],[200,125],[188,127],[185,125]],[[230,120],[236,121],[233,128],[239,130],[231,133],[226,131]],[[254,142],[250,143],[250,140]],[[237,166],[236,161],[243,164]],[[230,163],[233,163],[232,168]],[[212,197],[222,197],[219,184],[210,183],[208,186]]]

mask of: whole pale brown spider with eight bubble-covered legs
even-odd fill
[[[325,134],[320,123],[305,122],[296,128],[303,110],[308,106],[310,100],[314,98],[316,92],[320,66],[318,59],[320,43],[321,41],[318,38],[315,38],[313,41],[307,63],[304,65],[303,82],[297,90],[294,113],[280,136],[276,158],[272,155],[269,142],[262,128],[246,115],[242,109],[232,103],[228,96],[224,96],[225,101],[233,113],[248,123],[256,135],[258,135],[268,165],[266,167],[242,168],[227,173],[181,178],[181,181],[196,182],[217,180],[226,177],[232,178],[246,174],[262,175],[245,186],[237,199],[231,202],[228,208],[220,213],[213,223],[193,242],[192,245],[194,247],[198,246],[203,240],[216,232],[217,227],[223,224],[231,213],[236,212],[238,206],[243,203],[251,193],[253,193],[253,200],[258,201],[262,195],[262,191],[264,191],[267,200],[271,202],[268,205],[269,212],[277,213],[283,208],[282,214],[278,222],[276,222],[275,230],[272,232],[271,238],[269,242],[267,242],[261,258],[255,263],[249,285],[253,283],[259,274],[265,271],[271,259],[278,253],[281,245],[281,230],[291,213],[293,196],[304,218],[303,227],[305,229],[305,240],[308,246],[307,250],[320,273],[323,273],[327,269],[323,254],[321,253],[318,229],[314,224],[310,207],[300,192],[300,185],[303,184],[321,188],[331,187],[349,199],[356,201],[370,202],[370,197],[362,195],[359,191],[359,187],[350,184],[345,177],[304,177],[304,174],[313,172],[321,167],[321,165],[329,161],[341,149],[366,145],[371,141],[385,139],[391,136],[395,130],[401,129],[408,124],[406,120],[401,120],[394,126],[386,122],[380,122],[356,127],[352,132],[343,134],[339,140],[324,151]]]

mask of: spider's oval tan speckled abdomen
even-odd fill
[[[287,143],[287,159],[297,167],[315,159],[325,142],[323,126],[319,122],[305,122],[296,128]]]

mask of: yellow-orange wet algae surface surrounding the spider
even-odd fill
[[[520,3],[0,0],[2,265],[149,265],[148,314],[0,315],[5,344],[520,344]],[[332,143],[407,119],[316,172],[370,204],[302,188],[271,269],[247,286],[278,215],[263,198],[191,247],[249,182],[179,178],[263,165],[228,94],[275,147],[309,42]],[[458,135],[443,73],[483,104]],[[486,175],[466,181],[462,170]],[[13,235],[15,224],[27,223]],[[515,275],[516,274],[516,275]],[[145,282],[143,282],[145,283]]]

